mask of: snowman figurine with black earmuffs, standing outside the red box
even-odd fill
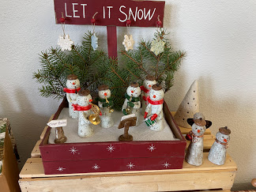
[[[212,122],[205,120],[205,116],[201,113],[195,113],[193,119],[186,120],[192,130],[186,135],[186,139],[190,140],[190,145],[187,149],[185,160],[187,163],[200,166],[203,161],[203,141],[205,130],[212,125]]]

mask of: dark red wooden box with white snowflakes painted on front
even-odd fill
[[[68,107],[66,100],[58,107],[54,119],[58,119],[63,107]],[[44,173],[51,175],[183,168],[186,141],[165,102],[164,116],[179,141],[48,144],[51,133],[51,127],[48,127],[40,144]]]

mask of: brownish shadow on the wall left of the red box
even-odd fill
[[[0,87],[2,90],[2,88]],[[30,157],[36,141],[40,140],[43,131],[42,125],[50,118],[49,115],[38,115],[34,109],[40,106],[33,106],[21,88],[17,88],[12,97],[8,93],[1,92],[0,105],[2,112],[0,117],[7,117],[13,130],[17,143],[17,149],[21,157],[21,169],[25,161]],[[36,104],[35,104],[36,105]]]

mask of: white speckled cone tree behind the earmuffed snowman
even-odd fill
[[[186,119],[193,118],[193,115],[199,112],[199,99],[198,99],[198,81],[190,86],[183,102],[179,105],[177,112],[175,113],[174,119],[178,126],[190,128],[190,125],[186,122]]]

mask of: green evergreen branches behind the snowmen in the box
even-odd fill
[[[33,73],[33,77],[43,84],[41,96],[62,99],[65,96],[63,88],[66,86],[66,77],[76,74],[81,88],[88,88],[94,98],[99,85],[108,85],[114,107],[120,110],[130,82],[137,81],[142,85],[147,74],[155,76],[164,90],[168,91],[185,55],[171,49],[170,40],[165,38],[165,32],[161,29],[156,32],[155,38],[164,40],[163,53],[155,55],[150,51],[151,43],[142,40],[137,50],[121,51],[122,58],[118,63],[116,59],[108,58],[104,51],[93,51],[91,36],[92,32],[85,33],[81,45],[73,46],[72,51],[51,47],[40,54],[41,69]]]

